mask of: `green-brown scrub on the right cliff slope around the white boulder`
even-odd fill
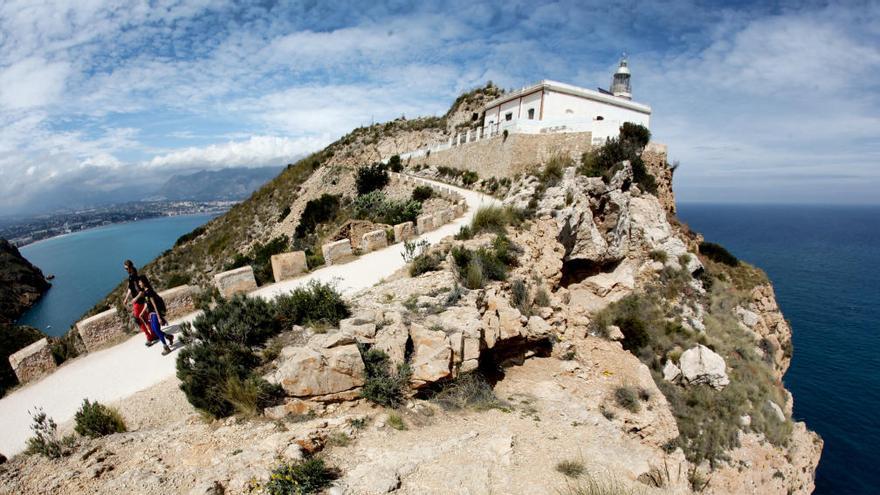
[[[708,460],[714,464],[726,459],[726,452],[738,446],[740,429],[762,433],[776,445],[784,445],[790,436],[791,421],[779,421],[767,406],[768,401],[785,403],[782,383],[775,378],[772,365],[756,352],[756,342],[733,313],[733,308],[745,303],[751,287],[738,287],[731,279],[746,279],[737,273],[751,270],[744,263],[731,267],[710,261],[704,278],[711,280],[711,288],[700,299],[702,296],[688,293],[686,277],[690,275],[686,270],[665,269],[657,283],[612,303],[596,315],[593,323],[597,333],[607,325],[620,327],[624,348],[651,369],[678,423],[680,436],[669,447],[681,447],[695,463]],[[679,323],[680,317],[670,303],[679,298],[682,303],[701,300],[706,305],[705,332]],[[705,385],[683,387],[663,380],[666,360],[677,359],[682,350],[697,344],[708,346],[725,359],[730,384],[723,390]],[[622,393],[618,389],[615,398],[622,407],[638,404],[635,391]],[[740,424],[744,415],[751,418],[748,427]]]

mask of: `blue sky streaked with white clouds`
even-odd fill
[[[687,202],[880,202],[880,3],[0,3],[0,215],[278,166],[488,80],[607,87]]]

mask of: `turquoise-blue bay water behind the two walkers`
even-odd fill
[[[49,335],[65,333],[76,320],[126,277],[122,262],[142,266],[174,245],[181,235],[213,218],[182,215],[151,218],[85,230],[24,246],[21,254],[55,275],[52,288],[19,323]]]

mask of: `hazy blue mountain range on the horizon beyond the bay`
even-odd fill
[[[150,197],[168,201],[238,201],[278,175],[282,167],[224,168],[171,176]]]

